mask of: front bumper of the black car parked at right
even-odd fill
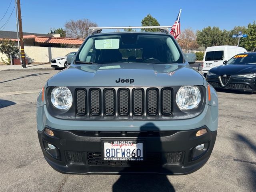
[[[218,75],[206,76],[206,80],[215,89],[228,89],[242,92],[256,92],[255,78],[231,76],[230,80],[225,86],[222,86],[222,84],[220,83]]]

